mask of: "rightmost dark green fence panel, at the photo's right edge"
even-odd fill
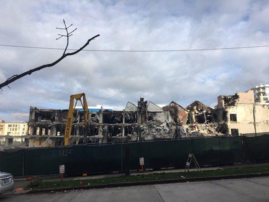
[[[269,160],[269,135],[242,136],[245,158],[249,161]]]

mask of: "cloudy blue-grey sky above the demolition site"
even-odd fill
[[[63,48],[56,27],[78,28],[70,48],[158,50],[269,44],[268,1],[0,1],[0,44]],[[0,83],[51,63],[59,50],[0,46]],[[80,52],[0,91],[0,119],[27,121],[30,106],[68,109],[85,92],[88,106],[123,109],[145,97],[182,106],[269,83],[269,47],[200,52]]]

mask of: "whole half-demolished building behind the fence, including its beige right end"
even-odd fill
[[[81,109],[74,110],[71,144],[144,141],[165,138],[238,135],[269,131],[269,105],[254,103],[253,91],[219,96],[211,108],[195,100],[186,108],[172,101],[159,107],[140,98],[123,111],[100,108],[89,112],[86,125]],[[68,110],[30,108],[28,146],[63,145]]]

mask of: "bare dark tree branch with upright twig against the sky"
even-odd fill
[[[72,24],[71,24],[69,27],[66,27],[66,23],[65,23],[65,20],[64,20],[64,25],[65,25],[65,28],[56,28],[56,29],[65,29],[66,32],[67,32],[67,35],[58,34],[58,35],[60,35],[60,37],[57,38],[57,39],[60,39],[60,38],[62,38],[63,36],[67,37],[67,45],[66,45],[66,48],[65,48],[65,51],[64,51],[64,54],[62,55],[62,57],[59,58],[58,60],[56,60],[56,61],[53,62],[53,63],[46,64],[46,65],[42,65],[42,66],[36,67],[36,68],[34,68],[34,69],[30,69],[29,71],[24,72],[24,73],[19,74],[19,75],[16,74],[16,75],[11,76],[11,77],[8,78],[4,83],[1,83],[1,84],[0,84],[0,89],[2,89],[4,86],[8,86],[8,87],[9,87],[9,84],[10,84],[10,83],[12,83],[12,82],[14,82],[14,81],[16,81],[16,80],[18,80],[18,79],[20,79],[20,78],[26,76],[26,75],[30,75],[30,74],[32,74],[33,72],[39,71],[39,70],[44,69],[44,68],[46,68],[46,67],[52,67],[52,66],[56,65],[57,63],[59,63],[60,61],[62,61],[62,60],[63,60],[64,58],[66,58],[67,56],[73,56],[73,55],[79,53],[80,51],[82,51],[83,48],[85,48],[85,47],[89,44],[89,42],[90,42],[91,40],[93,40],[93,39],[95,39],[96,37],[100,36],[100,34],[97,34],[97,35],[91,37],[90,39],[88,39],[88,41],[87,41],[82,47],[80,47],[79,49],[77,49],[77,51],[74,51],[74,52],[72,52],[72,53],[67,53],[67,54],[66,54],[66,50],[67,50],[67,47],[68,47],[68,44],[69,44],[69,37],[73,35],[73,34],[70,34],[70,33],[74,32],[77,28],[74,29],[72,32],[69,33],[67,29],[68,29],[69,27],[71,27]],[[10,88],[10,87],[9,87],[9,88]]]

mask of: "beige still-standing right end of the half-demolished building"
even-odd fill
[[[253,90],[219,96],[217,112],[227,127],[227,134],[269,131],[269,103],[256,103]]]

